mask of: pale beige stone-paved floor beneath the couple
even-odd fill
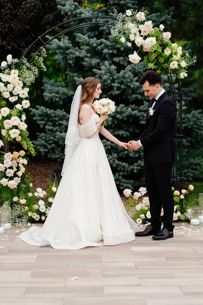
[[[71,251],[27,245],[25,229],[0,235],[1,305],[203,305],[203,225]]]

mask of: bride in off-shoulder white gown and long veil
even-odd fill
[[[96,114],[92,103],[101,94],[100,80],[87,77],[78,86],[65,139],[62,178],[43,228],[31,227],[20,238],[33,246],[81,249],[134,240],[138,225],[128,216],[99,133],[119,146],[104,126],[108,115]]]

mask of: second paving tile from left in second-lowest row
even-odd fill
[[[25,297],[104,296],[103,287],[27,288]]]

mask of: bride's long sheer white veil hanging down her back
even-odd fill
[[[78,86],[75,92],[73,102],[71,104],[69,127],[67,128],[67,133],[65,137],[65,152],[64,152],[65,159],[63,162],[61,176],[69,166],[69,163],[80,141],[80,133],[78,127],[78,110],[80,106],[81,94],[82,94],[82,86],[80,85]]]

